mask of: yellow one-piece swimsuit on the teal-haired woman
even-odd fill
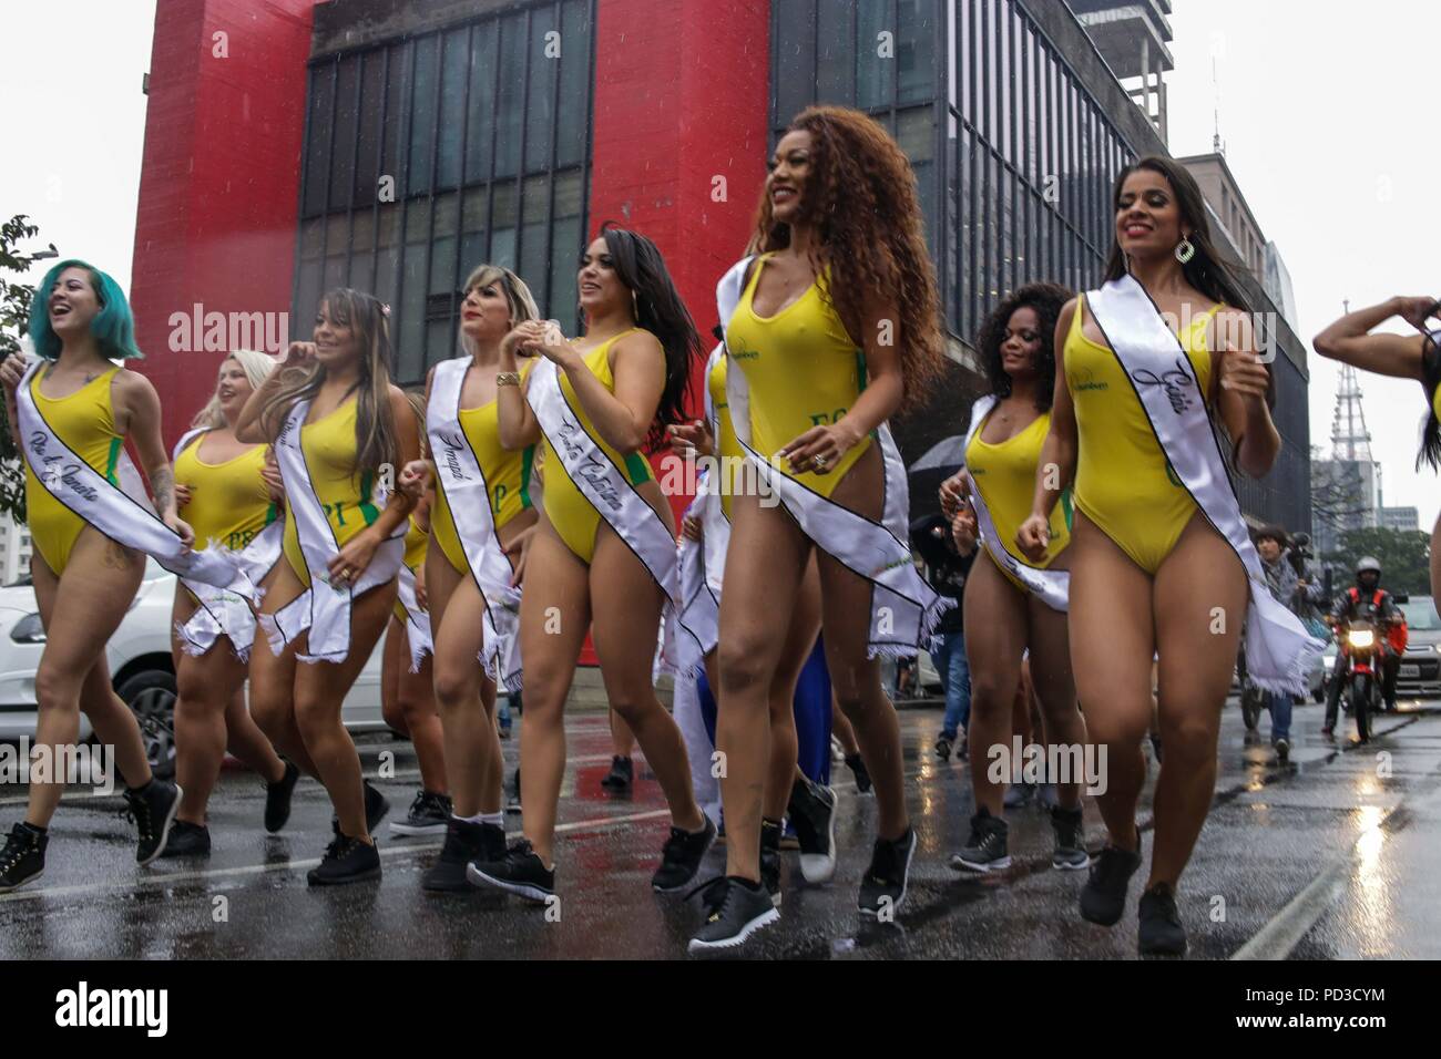
[[[115,468],[125,447],[124,435],[115,429],[115,406],[110,395],[111,380],[118,370],[112,367],[63,398],[40,393],[40,380],[49,375],[49,367],[30,379],[30,396],[55,437],[97,474],[104,474],[111,486],[118,486]],[[36,478],[29,454],[24,460],[24,504],[35,550],[59,576],[71,560],[75,539],[88,523],[56,500]]]

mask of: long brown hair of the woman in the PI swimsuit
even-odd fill
[[[353,473],[378,473],[399,460],[395,419],[391,415],[391,317],[373,295],[337,287],[320,300],[320,311],[354,331],[360,343],[360,379],[356,383],[356,463]],[[261,414],[267,434],[275,437],[290,409],[308,401],[326,382],[326,367],[287,367],[280,389]]]

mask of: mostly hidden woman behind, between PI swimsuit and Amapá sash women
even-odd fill
[[[415,429],[421,437],[421,452],[425,445],[425,396],[419,392],[406,393],[411,411],[415,414]],[[429,555],[431,511],[434,493],[421,490],[411,511],[411,523],[405,532],[405,569],[415,585],[415,602],[428,611],[429,596],[425,584],[425,558]],[[434,633],[434,627],[432,627]],[[434,643],[434,640],[432,640]],[[419,666],[412,671],[411,615],[401,599],[391,608],[391,621],[385,628],[385,647],[380,661],[380,713],[385,723],[403,735],[415,746],[415,761],[421,769],[421,790],[415,794],[405,820],[392,820],[392,834],[422,836],[445,834],[451,817],[450,785],[445,781],[445,736],[435,703],[434,647],[427,651]]]

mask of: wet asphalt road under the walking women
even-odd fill
[[[1321,741],[1321,707],[1298,706],[1293,762],[1282,768],[1265,742],[1245,741],[1241,712],[1228,706],[1215,805],[1182,883],[1192,958],[1441,957],[1441,703],[1404,702],[1402,710],[1379,722],[1369,748],[1347,748]],[[757,935],[745,955],[1134,958],[1140,877],[1118,926],[1081,921],[1084,873],[1050,867],[1049,818],[1039,807],[1007,813],[1009,872],[978,879],[947,866],[971,813],[968,767],[931,752],[940,710],[901,716],[919,844],[898,922],[863,928],[856,913],[875,800],[859,797],[839,767],[836,879],[807,888],[795,854],[787,854],[781,922]],[[1268,718],[1261,728],[1268,732]],[[380,883],[313,890],[305,870],[330,831],[324,791],[301,781],[291,823],[267,836],[259,781],[226,771],[210,803],[215,852],[202,862],[137,869],[120,800],[68,794],[45,876],[0,896],[0,958],[683,958],[699,906],[648,886],[667,828],[657,784],[641,775],[633,797],[607,797],[604,716],[576,715],[568,730],[555,922],[503,895],[422,892],[421,873],[440,839],[391,837],[386,824]],[[513,767],[516,741],[504,746]],[[395,779],[376,781],[393,818],[414,797],[418,774],[409,743],[369,736],[360,743],[367,775],[382,751],[396,759]],[[23,801],[23,790],[0,790],[6,830]],[[1150,785],[1141,811],[1148,856]],[[1087,821],[1091,847],[1099,849],[1102,828],[1089,804]],[[509,823],[519,828],[519,817]],[[703,873],[722,869],[718,846]]]

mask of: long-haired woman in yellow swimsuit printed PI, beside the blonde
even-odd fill
[[[261,605],[269,650],[251,653],[251,712],[336,808],[336,837],[311,886],[380,877],[372,831],[388,804],[362,779],[340,707],[391,618],[415,506],[380,488],[382,475],[393,478],[421,451],[391,360],[389,310],[333,290],[314,341],[291,343],[235,425],[241,441],[274,445],[285,483],[285,562]]]

